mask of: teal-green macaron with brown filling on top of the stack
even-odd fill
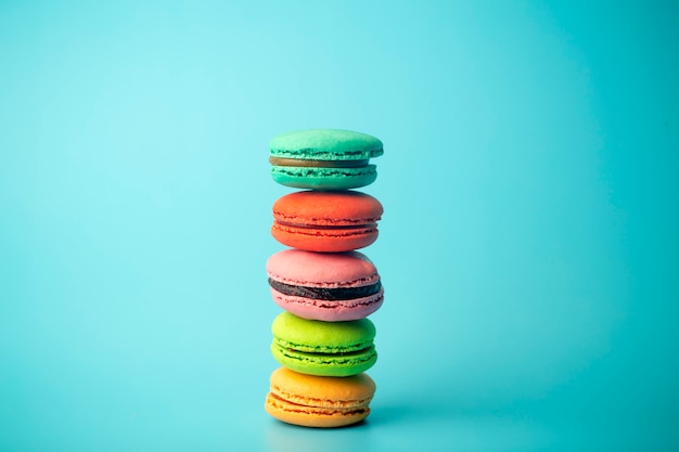
[[[269,142],[271,176],[296,189],[347,190],[375,181],[370,158],[384,153],[382,141],[367,133],[310,129],[281,133]]]

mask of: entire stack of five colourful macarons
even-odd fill
[[[342,427],[370,414],[376,361],[368,319],[384,300],[380,274],[357,249],[377,238],[382,205],[355,191],[376,178],[380,140],[335,129],[287,132],[269,143],[271,175],[299,189],[273,203],[271,234],[289,248],[267,261],[273,301],[266,411],[285,423]]]

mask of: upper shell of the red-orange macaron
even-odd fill
[[[294,192],[277,199],[272,210],[276,221],[303,227],[371,224],[384,212],[376,198],[355,191]]]

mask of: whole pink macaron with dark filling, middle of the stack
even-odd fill
[[[358,251],[285,249],[269,258],[267,273],[273,301],[303,319],[363,319],[384,300],[375,266]]]

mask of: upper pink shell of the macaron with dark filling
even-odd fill
[[[377,269],[358,251],[310,253],[285,249],[267,260],[270,279],[306,287],[356,287],[380,281]]]

